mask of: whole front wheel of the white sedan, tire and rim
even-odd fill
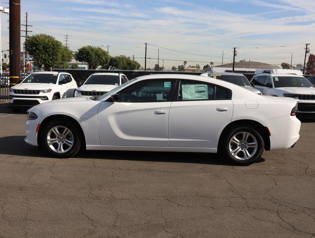
[[[80,130],[67,120],[48,122],[39,136],[43,148],[57,158],[75,156],[82,145]]]

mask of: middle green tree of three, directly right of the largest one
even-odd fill
[[[75,52],[75,59],[88,63],[89,69],[96,69],[98,66],[107,69],[110,55],[100,47],[83,46]]]

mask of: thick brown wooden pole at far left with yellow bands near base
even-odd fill
[[[10,0],[9,10],[9,55],[11,87],[16,85],[21,78],[21,0]]]

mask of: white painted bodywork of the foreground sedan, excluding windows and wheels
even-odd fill
[[[105,94],[102,101],[79,97],[32,107],[38,116],[26,121],[26,142],[37,145],[36,127],[51,115],[67,115],[81,126],[88,150],[217,152],[222,130],[237,120],[254,120],[271,132],[271,150],[287,149],[299,138],[301,122],[290,116],[296,101],[265,97],[235,84],[212,79],[232,91],[231,100],[153,103],[106,102],[112,94],[142,80],[209,80],[191,75],[149,75]],[[258,105],[248,108],[246,105]],[[252,106],[253,107],[253,106]],[[289,128],[289,130],[288,130]]]

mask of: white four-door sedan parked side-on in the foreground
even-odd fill
[[[59,158],[87,150],[221,152],[250,164],[293,147],[301,123],[291,98],[260,96],[202,76],[149,75],[102,96],[29,109],[25,141]]]

